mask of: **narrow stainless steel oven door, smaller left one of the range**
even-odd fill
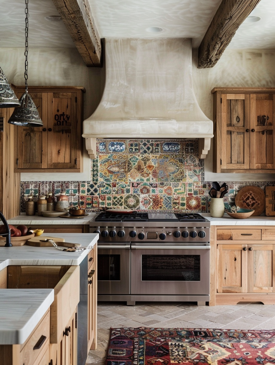
[[[98,243],[98,294],[130,294],[130,243]]]

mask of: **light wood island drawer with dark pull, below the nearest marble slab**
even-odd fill
[[[50,311],[47,312],[42,322],[38,325],[34,333],[27,340],[20,351],[20,365],[32,365],[43,353],[50,343]]]

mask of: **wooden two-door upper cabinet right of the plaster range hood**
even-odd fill
[[[273,88],[214,88],[213,172],[275,172]]]

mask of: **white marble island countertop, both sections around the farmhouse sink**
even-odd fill
[[[46,233],[40,237],[64,238],[93,247],[96,233]],[[54,247],[0,247],[0,270],[8,265],[79,265],[89,249],[78,252],[59,251]],[[0,289],[0,345],[24,343],[53,302],[53,289]]]

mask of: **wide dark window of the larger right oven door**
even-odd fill
[[[142,255],[142,281],[200,281],[200,255]]]

